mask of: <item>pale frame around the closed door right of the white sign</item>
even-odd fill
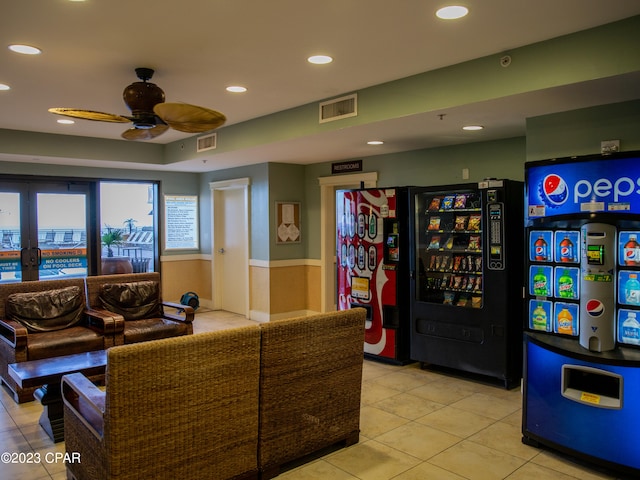
[[[250,229],[249,229],[249,219],[250,219],[250,201],[249,201],[249,186],[251,185],[251,179],[249,177],[244,178],[235,178],[232,180],[223,180],[219,182],[210,182],[209,189],[211,190],[211,298],[213,300],[213,308],[220,309],[222,306],[222,293],[221,289],[216,288],[216,282],[219,281],[220,276],[220,264],[216,262],[216,252],[219,247],[219,237],[216,237],[216,229],[215,229],[215,212],[216,212],[216,192],[222,190],[231,190],[231,189],[242,189],[244,194],[244,245],[245,245],[245,254],[244,257],[246,259],[246,272],[245,272],[245,316],[249,316],[249,300],[251,297],[251,292],[249,290],[249,242],[250,242]]]

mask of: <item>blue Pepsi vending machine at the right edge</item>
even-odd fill
[[[640,152],[525,164],[523,442],[640,474]]]

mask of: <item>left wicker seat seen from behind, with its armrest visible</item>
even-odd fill
[[[63,377],[67,477],[257,478],[259,356],[249,326],[111,348],[105,391]]]

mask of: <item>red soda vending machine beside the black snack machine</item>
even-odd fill
[[[364,353],[409,362],[409,206],[406,187],[336,193],[338,310],[367,311]]]

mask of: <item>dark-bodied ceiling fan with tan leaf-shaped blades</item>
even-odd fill
[[[151,140],[169,128],[202,133],[222,126],[227,120],[224,114],[209,108],[165,103],[162,89],[148,81],[153,77],[151,68],[136,68],[136,75],[142,81],[132,83],[122,93],[131,116],[76,108],[50,108],[49,112],[98,122],[133,123],[133,127],[122,134],[127,140]]]

